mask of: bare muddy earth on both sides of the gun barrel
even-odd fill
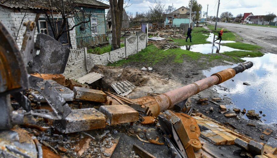
[[[229,29],[229,28],[228,28]],[[232,29],[230,29],[232,30]],[[240,35],[240,32],[237,32]],[[249,33],[244,33],[245,35],[250,35]],[[261,37],[261,36],[260,36]],[[250,40],[244,37],[244,40]],[[256,39],[257,40],[257,39]],[[246,41],[250,42],[250,41]],[[253,42],[252,42],[253,43]],[[268,48],[267,48],[268,49]],[[265,51],[265,50],[264,50]],[[273,49],[267,50],[268,52],[272,52]],[[105,75],[106,77],[103,78],[102,84],[103,88],[107,89],[109,84],[115,83],[118,81],[128,80],[132,82],[137,88],[131,92],[127,97],[129,98],[138,98],[141,96],[146,96],[147,93],[164,93],[172,89],[176,89],[178,87],[184,86],[191,82],[198,81],[200,79],[205,78],[206,76],[203,75],[202,70],[209,69],[214,66],[220,65],[228,65],[223,62],[212,61],[209,62],[205,57],[202,57],[198,61],[191,60],[184,57],[183,63],[173,63],[174,56],[169,57],[162,62],[157,63],[156,65],[152,66],[146,65],[145,63],[139,62],[129,62],[122,67],[104,67],[104,66],[96,66],[91,71],[99,72]],[[152,67],[152,71],[143,71],[140,70],[142,67]],[[232,66],[230,66],[232,67]],[[240,74],[238,74],[240,75]],[[223,87],[224,88],[224,87]],[[228,91],[228,89],[226,89]],[[209,102],[209,105],[200,105],[196,104],[196,101],[199,98],[214,98],[221,96],[215,90],[215,87],[211,87],[206,89],[199,94],[192,96],[191,101],[193,108],[199,110],[200,113],[205,114],[206,116],[219,121],[220,123],[230,123],[232,126],[236,128],[236,130],[244,135],[250,136],[251,138],[260,141],[260,142],[267,142],[270,137],[277,138],[277,124],[264,124],[261,123],[259,120],[249,120],[245,119],[242,113],[238,114],[237,118],[227,118],[224,114],[219,113],[219,106]],[[232,105],[227,107],[230,109],[228,113],[233,112],[233,108],[236,105],[232,102],[232,100],[228,98],[223,98],[220,102],[222,105]],[[209,111],[210,107],[213,107],[214,112],[212,113],[205,113]],[[242,110],[242,109],[241,109]],[[251,110],[251,109],[246,109]],[[258,113],[258,111],[256,111]],[[248,123],[254,123],[254,126],[247,126]],[[262,132],[266,129],[272,129],[273,132],[267,136],[262,134]],[[265,140],[260,139],[260,135],[263,135]]]

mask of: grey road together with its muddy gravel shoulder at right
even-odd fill
[[[211,23],[214,25],[215,23]],[[219,22],[218,27],[224,27],[243,38],[242,42],[262,46],[263,52],[277,54],[277,28],[250,26]],[[224,35],[222,37],[224,39]]]

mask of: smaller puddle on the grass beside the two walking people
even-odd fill
[[[223,52],[240,50],[240,49],[234,49],[224,45],[220,45],[219,43],[213,43],[213,41],[218,38],[218,36],[214,35],[213,33],[210,33],[210,35],[208,36],[209,37],[206,39],[206,41],[209,41],[211,43],[198,44],[198,45],[184,45],[184,46],[181,46],[181,49],[190,50],[192,52],[200,52],[203,54],[223,53]],[[235,41],[223,41],[223,40],[221,41],[221,43],[234,43],[234,42]],[[244,50],[240,50],[240,51],[244,51]]]

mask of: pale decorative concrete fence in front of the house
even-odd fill
[[[87,53],[86,48],[71,48],[63,75],[65,78],[77,79],[86,75],[94,65],[107,65],[122,58],[136,54],[146,48],[147,35],[129,36],[124,39],[124,47],[101,55]]]

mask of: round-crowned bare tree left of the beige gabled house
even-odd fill
[[[152,5],[149,6],[149,10],[145,12],[145,16],[151,19],[151,22],[159,22],[164,20],[165,3],[161,0],[155,0]]]

